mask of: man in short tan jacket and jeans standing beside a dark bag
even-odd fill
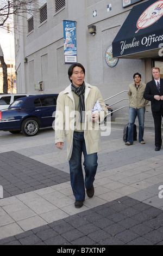
[[[144,123],[145,123],[145,105],[148,100],[143,98],[143,93],[145,92],[146,84],[141,82],[141,74],[135,73],[134,82],[129,85],[129,124],[128,124],[128,138],[126,145],[132,145],[134,141],[134,123],[136,116],[139,120],[139,142],[145,144],[143,140],[144,134]]]

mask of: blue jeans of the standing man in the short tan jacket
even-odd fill
[[[129,109],[129,124],[128,124],[128,138],[127,141],[133,144],[134,141],[134,123],[136,116],[139,120],[139,142],[143,141],[143,135],[144,135],[144,123],[145,123],[145,107],[141,109]]]

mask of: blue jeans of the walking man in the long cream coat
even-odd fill
[[[85,180],[82,169],[82,152],[84,155]],[[97,171],[97,153],[87,154],[84,133],[74,132],[73,150],[69,160],[71,187],[76,201],[85,200],[85,188],[93,186]]]

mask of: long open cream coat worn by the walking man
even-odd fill
[[[99,123],[91,121],[91,112],[95,103],[99,100],[103,110],[100,112],[100,122],[102,122],[108,113],[101,92],[97,87],[91,86],[85,82],[85,123],[84,138],[87,154],[99,152],[101,150],[101,139]],[[57,110],[55,114],[55,144],[67,141],[67,159],[70,160],[73,147],[74,132],[74,98],[69,85],[65,91],[60,92],[57,99]]]

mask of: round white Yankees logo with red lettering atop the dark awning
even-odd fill
[[[163,0],[155,2],[150,5],[139,17],[137,20],[137,28],[138,30],[135,32],[139,32],[140,29],[151,26],[153,23],[158,21],[160,17],[163,15]]]

